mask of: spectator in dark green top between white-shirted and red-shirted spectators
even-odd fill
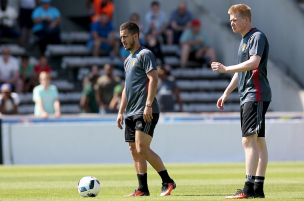
[[[33,65],[29,64],[28,56],[22,56],[19,68],[20,78],[23,81],[23,92],[32,92],[37,86],[37,74],[34,71]]]

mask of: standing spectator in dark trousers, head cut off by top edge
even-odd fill
[[[19,26],[21,28],[21,35],[25,39],[24,46],[29,45],[33,21],[31,19],[32,12],[36,7],[36,0],[19,0]]]

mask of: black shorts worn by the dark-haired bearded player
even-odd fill
[[[159,113],[152,114],[152,121],[145,122],[144,114],[135,114],[133,116],[127,116],[125,119],[126,130],[125,140],[126,142],[135,142],[135,130],[140,130],[153,137],[154,128],[158,122]]]

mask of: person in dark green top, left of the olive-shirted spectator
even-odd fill
[[[97,82],[98,75],[90,73],[88,75],[89,83],[82,90],[80,107],[83,113],[98,113],[98,104],[96,102],[94,85]]]

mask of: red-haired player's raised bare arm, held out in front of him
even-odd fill
[[[212,62],[211,68],[213,71],[220,73],[241,73],[258,68],[260,61],[261,57],[259,55],[251,55],[249,60],[232,66],[224,66],[219,62]]]

